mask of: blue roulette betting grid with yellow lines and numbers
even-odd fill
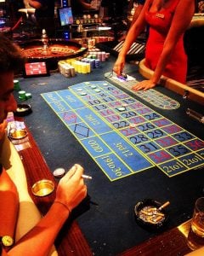
[[[42,93],[111,180],[157,166],[168,177],[204,165],[204,142],[106,81]]]

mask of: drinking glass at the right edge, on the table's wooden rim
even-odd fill
[[[196,236],[204,237],[204,197],[195,201],[191,229]]]

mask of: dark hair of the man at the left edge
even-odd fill
[[[18,71],[25,61],[22,49],[0,33],[0,73]]]

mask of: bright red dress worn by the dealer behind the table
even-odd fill
[[[145,52],[145,66],[149,67],[151,70],[156,69],[156,64],[161,55],[163,44],[173,19],[173,12],[177,4],[178,1],[173,1],[172,6],[168,9],[161,9],[161,11],[157,12],[146,12],[145,14],[145,19],[150,25],[150,33]],[[184,51],[183,38],[184,34],[179,38],[167,67],[162,74],[185,84],[187,55]]]

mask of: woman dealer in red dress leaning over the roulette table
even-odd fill
[[[187,55],[184,51],[184,32],[195,12],[192,0],[147,0],[139,18],[130,27],[113,71],[120,75],[125,56],[144,26],[149,26],[145,66],[154,71],[149,80],[133,85],[133,90],[148,90],[156,86],[161,75],[185,84]]]

